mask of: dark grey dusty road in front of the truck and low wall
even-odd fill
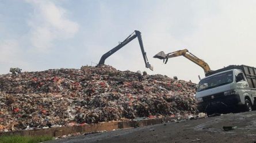
[[[224,131],[223,126],[234,129]],[[50,142],[256,142],[256,111],[80,135]]]

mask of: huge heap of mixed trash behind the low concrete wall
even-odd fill
[[[0,132],[197,114],[195,84],[112,66],[0,76]]]

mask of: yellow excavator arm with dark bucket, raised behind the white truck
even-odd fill
[[[165,62],[165,64],[166,64],[169,58],[178,57],[178,56],[181,56],[181,55],[183,55],[184,57],[188,58],[190,61],[196,63],[198,66],[201,66],[202,69],[204,69],[204,73],[205,74],[207,74],[207,73],[212,71],[210,69],[209,65],[206,62],[204,62],[200,58],[197,58],[196,55],[193,55],[187,49],[174,51],[174,52],[171,52],[171,53],[168,53],[168,54],[165,54],[165,52],[160,51],[158,54],[156,54],[154,56],[154,58],[163,59],[163,62]]]

